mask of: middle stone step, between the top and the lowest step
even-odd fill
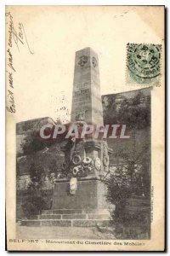
[[[109,214],[87,213],[87,214],[41,214],[35,219],[110,219]],[[32,218],[31,218],[32,219]]]

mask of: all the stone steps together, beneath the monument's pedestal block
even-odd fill
[[[107,209],[99,210],[44,210],[41,215],[23,219],[22,226],[59,226],[59,227],[99,227],[110,225],[110,214]]]

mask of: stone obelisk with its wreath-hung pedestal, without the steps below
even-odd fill
[[[103,125],[99,84],[99,59],[91,48],[78,50],[72,95],[71,124]],[[71,138],[61,149],[65,153],[62,177],[54,183],[53,210],[83,212],[107,209],[105,185],[101,179],[109,171],[109,148],[105,140],[93,136]]]

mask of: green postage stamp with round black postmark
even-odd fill
[[[161,76],[161,44],[127,44],[127,84],[155,84]]]

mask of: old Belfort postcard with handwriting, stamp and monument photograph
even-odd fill
[[[9,251],[163,251],[164,6],[6,7]]]

